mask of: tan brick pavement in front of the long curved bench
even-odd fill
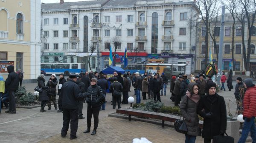
[[[92,123],[93,125],[93,123]],[[106,117],[100,119],[96,135],[84,134],[86,125],[79,123],[78,138],[70,140],[62,138],[61,134],[54,135],[38,143],[132,143],[134,138],[146,137],[152,143],[184,143],[185,136],[171,127],[162,128],[159,125],[140,121]],[[197,137],[196,143],[203,143],[202,137]]]

